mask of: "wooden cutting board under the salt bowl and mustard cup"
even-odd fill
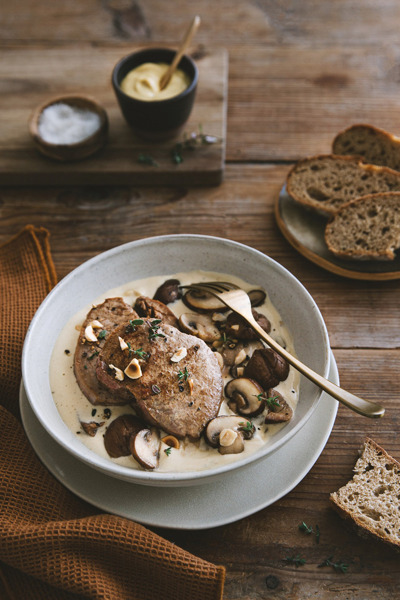
[[[111,73],[129,47],[46,46],[0,51],[0,184],[1,185],[217,185],[224,176],[228,55],[226,50],[193,52],[199,86],[185,133],[199,131],[221,140],[184,151],[177,165],[171,150],[182,137],[168,142],[142,142],[131,132],[116,101]],[[83,93],[94,96],[107,111],[109,140],[85,160],[58,163],[43,157],[28,134],[31,111],[47,98]],[[158,167],[137,161],[151,155]]]

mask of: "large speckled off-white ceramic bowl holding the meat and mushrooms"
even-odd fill
[[[317,305],[290,272],[257,250],[227,239],[167,235],[140,239],[99,254],[60,281],[38,308],[23,347],[22,374],[29,403],[50,436],[83,463],[107,475],[143,485],[209,483],[275,452],[303,427],[320,399],[320,389],[302,376],[294,416],[269,443],[235,463],[204,471],[161,473],[122,467],[99,457],[71,433],[59,416],[49,383],[50,356],[65,323],[80,308],[113,287],[151,275],[192,269],[229,273],[266,289],[293,335],[299,359],[324,377],[329,373],[329,340]]]

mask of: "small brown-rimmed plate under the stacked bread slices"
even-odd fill
[[[395,260],[343,260],[324,241],[327,219],[293,200],[284,185],[275,203],[278,227],[293,248],[323,269],[351,279],[384,281],[400,278],[400,253]]]

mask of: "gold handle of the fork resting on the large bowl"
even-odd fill
[[[312,381],[312,383],[315,383],[315,385],[323,389],[324,392],[327,392],[327,394],[333,396],[333,398],[336,398],[336,400],[339,400],[339,402],[347,406],[349,409],[359,413],[359,415],[368,416],[372,419],[377,419],[384,415],[385,409],[382,406],[379,406],[379,404],[375,404],[374,402],[369,402],[368,400],[363,400],[363,398],[359,398],[354,394],[350,394],[350,392],[345,391],[345,389],[339,388],[339,386],[335,385],[335,383],[332,383],[321,375],[318,375],[318,373],[315,373],[315,371],[304,365],[295,356],[291,355],[289,352],[287,352],[287,350],[282,348],[282,346],[279,346],[279,344],[277,344],[272,337],[266,334],[264,329],[261,329],[255,319],[252,317],[250,319],[248,316],[247,320],[249,325],[251,325],[254,331],[257,332],[260,338],[264,340],[268,346],[275,350],[275,352],[278,352],[278,354],[281,355],[282,358],[284,358],[290,365],[292,365],[292,367],[297,369],[297,371],[300,371],[300,373]]]

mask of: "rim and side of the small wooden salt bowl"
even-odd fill
[[[65,104],[73,105],[73,100],[85,100],[89,105],[95,108],[95,113],[100,116],[100,127],[94,131],[89,137],[85,137],[85,139],[80,140],[80,142],[74,142],[73,144],[56,144],[53,142],[46,142],[43,137],[40,136],[38,131],[38,123],[41,113],[43,113],[44,109],[47,109],[48,106],[52,106],[53,104],[58,104],[64,102]],[[94,142],[99,134],[103,134],[109,127],[109,118],[106,113],[106,109],[96,100],[96,98],[88,95],[88,94],[62,94],[59,96],[53,96],[52,98],[47,98],[41,104],[38,104],[32,110],[31,115],[29,115],[28,119],[28,131],[29,135],[34,139],[36,143],[40,143],[44,148],[50,149],[58,149],[58,150],[67,150],[67,149],[79,149],[83,148],[86,145],[90,145]]]

